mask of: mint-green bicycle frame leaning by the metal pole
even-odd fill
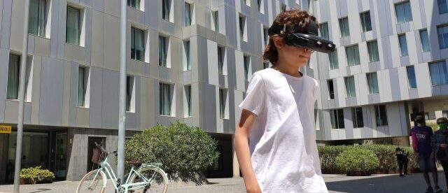
[[[141,173],[137,172],[139,171],[139,169],[141,169],[142,167],[146,167],[146,166],[155,166],[158,167],[161,164],[155,163],[155,164],[142,164],[138,169],[134,169],[134,166],[132,166],[130,173],[127,176],[127,179],[125,180],[125,183],[122,183],[121,185],[117,184],[117,176],[115,174],[115,172],[113,171],[111,165],[107,162],[107,157],[100,163],[100,168],[97,170],[97,173],[95,173],[94,179],[97,178],[97,176],[99,175],[99,173],[101,171],[105,171],[104,173],[106,173],[106,178],[107,179],[111,179],[112,180],[112,184],[113,187],[118,191],[118,189],[120,187],[124,187],[125,188],[125,192],[127,192],[128,190],[137,190],[141,187],[145,187],[148,184],[152,183],[153,176],[151,177],[151,179],[146,178],[145,176],[141,175]],[[141,183],[130,183],[131,177],[132,175],[137,175],[140,178],[142,178],[144,180],[144,182]],[[107,179],[106,179],[106,183],[104,183],[104,188],[107,187]],[[92,181],[92,183],[94,183],[94,181]],[[130,188],[131,187],[131,188]]]

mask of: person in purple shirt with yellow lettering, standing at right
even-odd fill
[[[423,172],[423,178],[425,178],[428,189],[426,192],[442,192],[438,185],[437,168],[435,167],[435,158],[433,153],[433,147],[431,146],[431,138],[433,137],[433,129],[426,126],[425,117],[421,113],[417,114],[414,122],[416,125],[411,130],[412,135],[412,147],[417,157],[419,157],[419,167]],[[428,172],[433,173],[434,190],[431,187]]]

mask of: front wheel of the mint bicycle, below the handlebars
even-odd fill
[[[106,174],[103,171],[99,171],[97,174],[97,171],[94,170],[85,174],[76,188],[76,193],[104,192],[107,179]]]

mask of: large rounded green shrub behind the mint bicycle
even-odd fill
[[[160,162],[172,180],[207,182],[202,172],[216,162],[217,142],[199,127],[176,123],[145,129],[126,142],[125,159]]]

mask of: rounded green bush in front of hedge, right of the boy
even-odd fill
[[[360,172],[370,175],[379,166],[379,159],[372,150],[366,148],[349,148],[340,153],[335,160],[338,169],[347,174]]]

